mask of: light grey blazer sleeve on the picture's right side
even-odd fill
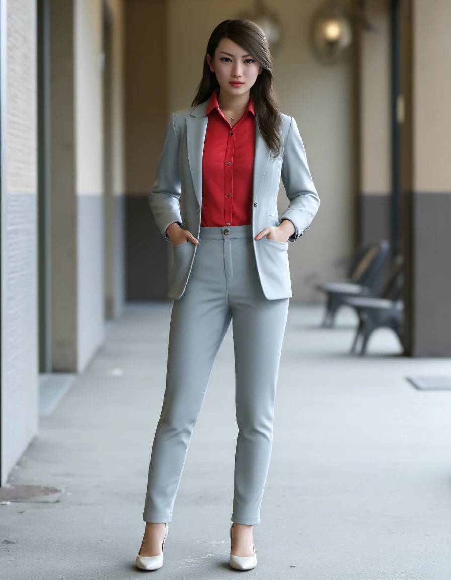
[[[295,242],[315,217],[319,208],[319,197],[312,182],[304,145],[293,117],[283,151],[282,183],[290,205],[279,222],[282,223],[284,219],[293,222],[296,231],[289,241]]]

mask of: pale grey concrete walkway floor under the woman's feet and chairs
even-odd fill
[[[152,437],[161,409],[170,306],[134,306],[78,376],[13,470],[56,502],[0,506],[0,580],[125,580],[144,530]],[[451,391],[409,374],[449,360],[399,356],[380,330],[350,357],[355,318],[320,329],[321,307],[290,306],[272,462],[254,527],[265,580],[449,580]],[[268,329],[270,331],[270,329]],[[195,340],[195,336],[192,337]],[[220,580],[228,567],[234,370],[229,332],[194,430],[158,578]],[[150,573],[152,574],[152,573]]]

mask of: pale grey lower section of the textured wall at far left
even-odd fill
[[[3,469],[8,473],[38,430],[38,200],[8,194],[6,201],[6,384],[3,390]]]

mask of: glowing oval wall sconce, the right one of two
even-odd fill
[[[351,21],[336,2],[326,2],[313,14],[310,32],[313,52],[322,63],[339,63],[348,55]]]

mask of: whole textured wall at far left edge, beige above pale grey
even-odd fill
[[[7,14],[2,483],[38,429],[36,2]]]

